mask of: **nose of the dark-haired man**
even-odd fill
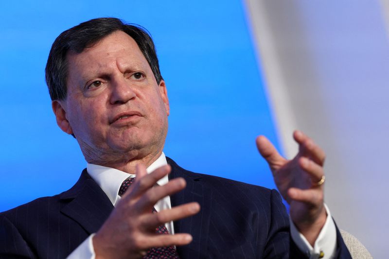
[[[111,104],[125,104],[136,97],[132,86],[123,77],[112,80],[111,82],[112,92],[109,100]]]

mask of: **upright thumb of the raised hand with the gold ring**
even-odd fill
[[[259,136],[256,143],[259,153],[265,158],[271,170],[277,170],[283,166],[286,159],[278,153],[277,149],[265,136]]]

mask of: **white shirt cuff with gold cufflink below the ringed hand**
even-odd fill
[[[332,259],[336,252],[336,227],[334,220],[331,217],[330,210],[327,205],[324,204],[327,212],[327,219],[320,230],[317,240],[315,241],[314,247],[305,239],[305,237],[297,230],[297,227],[292,222],[290,216],[290,234],[293,242],[297,247],[310,259]],[[324,253],[324,255],[323,255]],[[321,256],[320,256],[321,254]]]

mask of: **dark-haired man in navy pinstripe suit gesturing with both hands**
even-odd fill
[[[63,32],[46,81],[88,167],[70,190],[1,213],[1,258],[350,258],[323,204],[325,155],[301,132],[290,161],[257,138],[291,234],[275,190],[165,157],[169,101],[142,29],[98,18]]]

